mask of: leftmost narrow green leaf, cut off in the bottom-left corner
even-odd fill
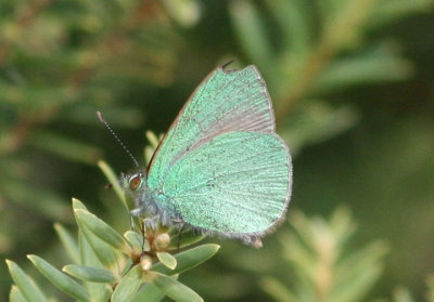
[[[17,290],[20,290],[20,293],[27,301],[47,301],[47,298],[42,294],[35,281],[28,277],[15,262],[7,260],[7,264]],[[18,293],[15,296],[18,296]],[[18,297],[16,299],[18,299]]]

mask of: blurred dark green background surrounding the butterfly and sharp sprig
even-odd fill
[[[426,300],[433,49],[433,0],[1,0],[1,258],[46,288],[25,255],[64,264],[52,224],[74,231],[72,197],[127,229],[95,163],[119,173],[133,163],[95,111],[141,160],[145,131],[165,132],[195,86],[234,58],[231,68],[261,71],[292,150],[289,221],[345,206],[358,225],[348,249],[380,239],[388,250],[361,300],[397,299],[400,286]],[[289,229],[285,222],[259,250],[210,238],[220,252],[181,280],[206,301],[272,300],[261,278],[294,285],[282,265]],[[2,260],[0,300],[10,285]]]

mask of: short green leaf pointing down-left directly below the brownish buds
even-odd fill
[[[136,265],[132,267],[119,281],[115,288],[112,301],[113,302],[129,302],[135,297],[137,290],[142,284],[142,267]]]

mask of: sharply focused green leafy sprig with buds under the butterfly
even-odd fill
[[[105,163],[101,166],[106,174],[113,174]],[[112,184],[118,186],[118,181]],[[120,199],[125,201],[124,194]],[[184,232],[166,227],[146,229],[144,234],[127,231],[122,236],[90,213],[78,199],[73,199],[73,209],[79,227],[78,244],[61,224],[56,224],[55,229],[74,263],[63,266],[61,272],[40,257],[27,255],[35,267],[61,291],[78,301],[143,301],[143,298],[146,301],[161,301],[165,296],[175,301],[203,301],[196,292],[176,279],[180,273],[212,258],[219,246],[202,245],[173,255],[170,251],[179,251],[200,241],[203,236],[188,238]],[[182,234],[186,239],[180,242]],[[16,285],[10,293],[11,302],[48,301],[47,294],[16,263],[9,260],[7,263]]]

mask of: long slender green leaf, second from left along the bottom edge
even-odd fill
[[[89,293],[81,285],[77,284],[75,280],[52,266],[50,263],[35,254],[29,254],[27,258],[33,262],[35,267],[38,268],[38,271],[50,280],[50,283],[60,288],[63,292],[79,301],[91,301]]]

